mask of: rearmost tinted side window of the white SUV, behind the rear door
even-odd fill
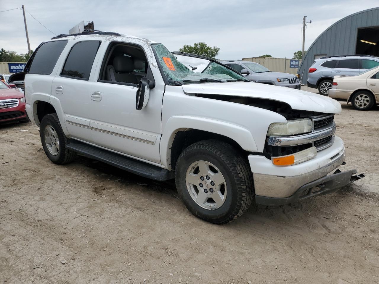
[[[67,41],[49,41],[42,44],[33,54],[28,73],[51,74],[66,44]]]

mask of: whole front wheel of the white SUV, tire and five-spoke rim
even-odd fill
[[[215,224],[242,215],[254,197],[246,158],[217,140],[200,141],[183,150],[175,167],[175,183],[186,208]]]

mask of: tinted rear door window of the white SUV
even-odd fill
[[[100,41],[81,41],[71,48],[61,76],[88,80]]]

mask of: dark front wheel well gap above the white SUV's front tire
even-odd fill
[[[208,131],[203,130],[189,130],[189,131],[178,131],[175,135],[175,138],[171,145],[171,167],[172,170],[175,170],[175,164],[177,159],[180,156],[180,153],[187,148],[189,145],[194,144],[196,142],[202,141],[202,140],[209,140],[209,139],[215,139],[219,141],[226,142],[233,147],[235,147],[237,150],[241,151],[241,153],[247,153],[247,151],[243,150],[241,146],[233,139],[223,136],[216,133],[211,133]]]

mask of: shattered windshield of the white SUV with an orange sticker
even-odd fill
[[[211,61],[204,70],[197,68],[197,66],[191,66],[193,68],[190,70],[163,44],[152,44],[151,46],[157,56],[158,64],[162,67],[164,76],[166,76],[167,80],[172,82],[212,83],[247,81],[244,76],[213,61]],[[200,60],[205,61],[205,59]]]

